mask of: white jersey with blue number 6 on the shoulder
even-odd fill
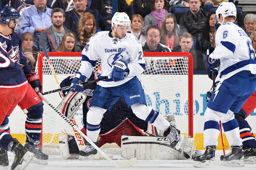
[[[215,45],[216,48],[210,57],[220,59],[216,81],[225,80],[237,73],[256,74],[255,52],[251,39],[236,23],[227,22],[218,28]]]

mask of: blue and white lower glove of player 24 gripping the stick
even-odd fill
[[[86,76],[82,75],[80,72],[76,72],[75,78],[71,81],[70,91],[71,92],[83,92],[83,85],[79,85],[77,83],[83,83],[88,81]]]

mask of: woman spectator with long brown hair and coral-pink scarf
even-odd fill
[[[174,16],[175,17],[175,16]],[[179,46],[179,34],[176,18],[169,15],[164,18],[161,26],[161,43],[169,47],[171,50]]]

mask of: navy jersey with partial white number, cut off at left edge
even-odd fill
[[[20,65],[7,57],[6,50],[0,42],[0,88],[13,88],[27,83]]]

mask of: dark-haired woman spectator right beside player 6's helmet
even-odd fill
[[[204,32],[197,35],[196,49],[201,51],[203,53],[203,56],[206,56],[206,50],[208,49],[208,47],[215,48],[215,23],[215,12],[211,12],[207,17]]]

